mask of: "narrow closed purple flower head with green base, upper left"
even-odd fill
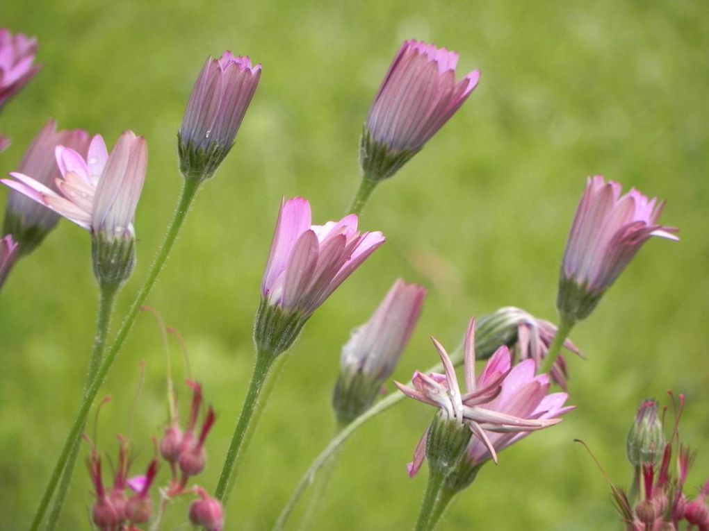
[[[209,178],[234,144],[236,132],[261,78],[261,65],[224,52],[209,57],[197,77],[178,135],[186,178]]]

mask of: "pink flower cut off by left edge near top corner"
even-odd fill
[[[0,28],[0,109],[39,72],[36,53],[36,39]]]

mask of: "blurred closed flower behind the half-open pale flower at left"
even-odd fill
[[[72,149],[82,158],[89,151],[89,133],[83,130],[57,130],[57,122],[50,120],[38,133],[22,158],[17,173],[30,176],[34,181],[57,192],[60,167],[57,165],[57,146]],[[12,234],[26,255],[37,247],[55,227],[59,215],[36,202],[24,193],[11,190],[7,199],[3,231]]]

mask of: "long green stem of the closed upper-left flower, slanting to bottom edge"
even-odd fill
[[[130,307],[128,315],[125,316],[123,324],[121,324],[121,329],[119,329],[116,334],[116,339],[113,341],[111,348],[108,349],[106,358],[104,358],[103,362],[101,362],[99,370],[96,372],[96,378],[91,383],[89,390],[84,394],[84,400],[79,407],[79,412],[77,413],[76,418],[74,418],[72,429],[69,431],[69,436],[62,447],[62,452],[60,453],[59,459],[57,459],[57,464],[55,464],[54,470],[52,471],[52,476],[50,477],[50,480],[45,488],[40,505],[37,508],[32,525],[30,526],[30,531],[36,531],[40,523],[42,523],[44,515],[47,512],[49,502],[51,501],[52,495],[57,487],[57,482],[62,474],[62,470],[65,469],[65,465],[69,459],[72,447],[74,447],[74,444],[76,444],[81,437],[82,430],[84,429],[84,423],[86,423],[86,417],[89,415],[91,405],[94,404],[96,394],[99,393],[101,384],[104,383],[106,375],[108,375],[108,370],[111,368],[111,365],[113,365],[113,360],[115,360],[118,355],[118,350],[121,349],[123,341],[125,341],[125,337],[128,336],[128,331],[130,331],[130,327],[133,326],[133,321],[135,321],[135,317],[138,316],[140,307],[143,305],[143,302],[145,302],[152,286],[155,285],[157,275],[160,273],[160,270],[162,270],[162,265],[164,265],[167,255],[169,254],[170,249],[172,249],[172,244],[174,244],[174,241],[177,238],[179,229],[182,227],[198,188],[199,181],[194,179],[186,179],[184,181],[182,195],[180,196],[177,210],[175,210],[172,222],[170,222],[169,228],[167,229],[167,235],[162,242],[160,250],[157,251],[155,262],[152,263],[152,267],[147,273],[147,278],[145,279],[143,287],[140,288],[138,295],[135,297],[135,301],[133,301],[133,305]],[[70,471],[69,474],[71,474]]]

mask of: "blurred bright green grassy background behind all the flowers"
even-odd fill
[[[0,173],[16,169],[52,117],[100,132],[109,146],[125,129],[147,138],[139,263],[114,323],[172,215],[176,131],[204,59],[230,49],[264,65],[236,146],[203,188],[149,299],[186,338],[194,377],[218,412],[199,478],[209,489],[250,378],[252,318],[281,196],[311,200],[316,222],[342,215],[359,183],[362,122],[401,40],[457,50],[461,76],[482,71],[469,101],[364,210],[362,227],[381,229],[388,243],[306,326],[246,455],[228,530],[269,529],[328,441],[340,346],[398,275],[429,295],[397,379],[435,362],[428,336],[454,348],[471,315],[514,304],[554,320],[569,223],[596,173],[665,198],[663,221],[680,227],[682,241],[650,241],[572,334],[588,357],[569,360],[579,408],[484,467],[440,529],[620,528],[608,484],[572,439],[628,484],[635,407],[666,389],[687,396],[683,440],[699,450],[688,492],[698,492],[709,474],[708,3],[9,0],[0,17],[38,37],[45,64],[0,119],[13,138]],[[61,222],[2,292],[3,530],[28,525],[77,409],[96,309],[89,256],[88,235]],[[176,345],[173,353],[179,360]],[[113,402],[101,413],[99,445],[111,455],[116,433],[129,430],[141,360],[135,473],[166,420],[162,346],[147,314],[102,392]],[[408,479],[405,465],[431,416],[410,401],[354,435],[316,528],[411,528],[426,473]],[[60,528],[89,529],[92,501],[79,464]],[[164,529],[186,521],[187,503],[174,504]]]

